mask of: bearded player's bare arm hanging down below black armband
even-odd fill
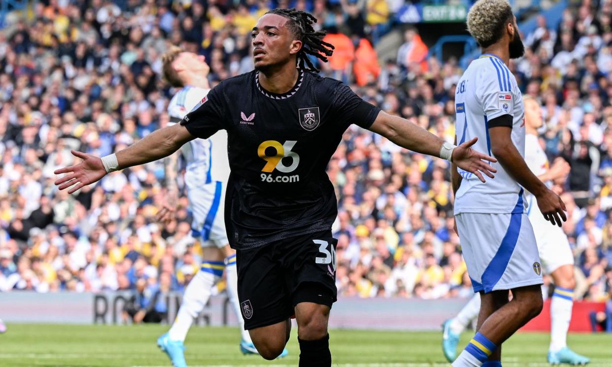
[[[498,118],[504,118],[504,115]],[[493,120],[491,120],[493,122]],[[527,163],[523,160],[510,137],[512,128],[507,126],[496,126],[489,128],[491,138],[491,152],[498,158],[499,164],[515,179],[518,184],[532,193],[537,199],[540,211],[546,220],[561,227],[565,217],[565,203],[553,191],[549,190],[531,172]]]

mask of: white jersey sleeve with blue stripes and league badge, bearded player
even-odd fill
[[[477,76],[476,98],[482,105],[487,120],[508,114],[513,116],[514,95],[499,74],[501,66],[483,67]]]

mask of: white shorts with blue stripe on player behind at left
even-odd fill
[[[192,235],[202,240],[202,247],[222,248],[228,243],[225,232],[225,184],[215,181],[187,190],[193,215]]]

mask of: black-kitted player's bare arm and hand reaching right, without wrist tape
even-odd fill
[[[371,125],[370,130],[383,135],[400,147],[422,154],[433,155],[434,157],[441,157],[444,140],[409,120],[381,111],[378,117],[376,117],[374,124]],[[482,174],[492,179],[494,177],[493,174],[497,172],[487,161],[496,162],[497,160],[472,149],[471,146],[477,140],[478,138],[471,139],[453,149],[450,161],[457,167],[472,172],[482,182],[485,182]]]

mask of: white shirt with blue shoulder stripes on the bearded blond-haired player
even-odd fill
[[[477,136],[478,141],[472,149],[491,156],[488,121],[510,114],[513,117],[512,143],[524,157],[523,98],[516,78],[498,56],[484,54],[469,64],[457,84],[455,112],[457,143]],[[497,169],[497,173],[494,179],[485,176],[487,182],[484,184],[471,172],[458,169],[463,180],[455,198],[455,214],[512,213],[519,210],[515,207],[519,197],[522,198],[523,188],[499,163],[491,166]]]

